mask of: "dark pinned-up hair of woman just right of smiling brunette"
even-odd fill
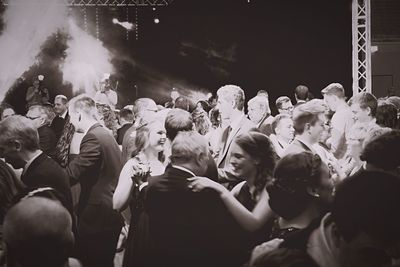
[[[320,184],[321,158],[310,152],[289,154],[278,161],[267,186],[271,209],[286,220],[298,216],[312,198],[308,187]]]

